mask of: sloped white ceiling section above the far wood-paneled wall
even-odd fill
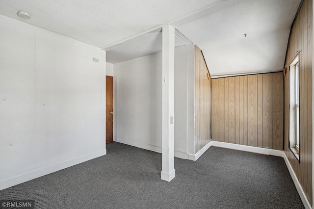
[[[203,51],[211,76],[280,70],[300,2],[245,0],[178,30]]]

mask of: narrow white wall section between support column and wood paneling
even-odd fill
[[[193,44],[175,50],[175,151],[182,158],[195,154]]]

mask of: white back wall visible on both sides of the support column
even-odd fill
[[[194,145],[191,46],[175,50],[175,156],[181,158],[188,157],[188,140]],[[161,52],[113,64],[114,141],[161,152],[161,64]]]

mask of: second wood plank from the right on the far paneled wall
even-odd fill
[[[263,147],[272,149],[272,74],[263,75]]]

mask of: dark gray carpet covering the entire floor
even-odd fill
[[[0,191],[36,209],[302,209],[281,157],[210,147],[197,161],[175,158],[160,180],[161,154],[113,142],[107,155]]]

